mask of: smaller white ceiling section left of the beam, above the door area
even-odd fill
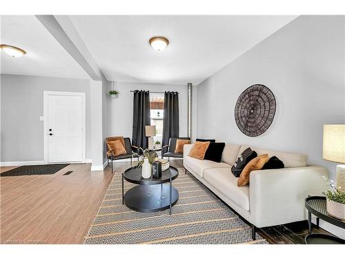
[[[14,58],[0,51],[1,74],[90,78],[34,15],[1,15],[1,44],[27,52]]]

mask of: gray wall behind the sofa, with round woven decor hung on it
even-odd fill
[[[275,32],[197,86],[197,135],[322,160],[323,124],[345,123],[344,17],[302,16]],[[277,113],[268,131],[247,137],[237,128],[237,97],[264,84],[275,94]]]

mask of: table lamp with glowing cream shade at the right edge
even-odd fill
[[[322,158],[345,164],[345,124],[324,125]],[[345,165],[337,165],[336,185],[345,190]]]

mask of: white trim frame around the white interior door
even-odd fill
[[[82,112],[82,125],[83,135],[82,140],[82,163],[86,162],[86,95],[79,92],[57,92],[57,91],[43,91],[43,155],[44,164],[48,164],[48,96],[49,95],[65,95],[65,96],[80,96],[81,97],[81,112]],[[68,162],[68,161],[66,161]],[[76,162],[76,163],[80,163]],[[74,163],[74,162],[70,162]]]

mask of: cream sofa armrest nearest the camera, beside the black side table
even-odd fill
[[[250,214],[253,224],[267,227],[306,219],[304,199],[326,189],[323,166],[270,169],[250,173]]]

